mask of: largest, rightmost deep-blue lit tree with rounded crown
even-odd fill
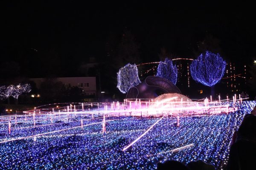
[[[198,59],[192,61],[190,71],[192,78],[209,87],[220,81],[224,75],[226,62],[219,54],[206,51]]]

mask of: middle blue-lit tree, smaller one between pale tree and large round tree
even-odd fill
[[[164,62],[160,61],[157,67],[157,77],[168,79],[173,84],[177,82],[177,67],[172,64],[172,60],[166,58]]]

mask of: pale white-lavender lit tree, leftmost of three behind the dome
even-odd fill
[[[117,88],[123,93],[127,93],[130,88],[140,84],[137,65],[128,63],[119,69],[117,73]]]

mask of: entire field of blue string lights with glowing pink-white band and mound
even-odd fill
[[[119,110],[120,102],[72,103],[74,109],[67,113],[65,109],[70,103],[55,103],[25,111],[25,115],[0,116],[0,167],[123,169],[122,150],[131,144],[125,152],[127,169],[155,169],[157,162],[166,160],[184,164],[204,160],[221,169],[227,163],[231,136],[256,102],[237,102],[235,109],[231,101],[209,103],[206,98],[192,102],[181,94],[164,94],[150,100],[127,99],[122,104],[130,105],[131,110]],[[230,108],[233,111],[223,110]],[[143,109],[151,111],[151,115],[154,111],[162,119],[143,117]],[[176,115],[169,114],[172,109]],[[186,113],[191,109],[210,112],[189,116]],[[218,109],[222,109],[220,113]],[[141,116],[137,117],[135,111]],[[126,112],[131,112],[131,116],[125,116]]]

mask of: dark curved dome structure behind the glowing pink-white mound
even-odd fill
[[[144,82],[130,88],[126,99],[154,99],[166,93],[181,94],[180,89],[172,82],[161,77],[149,76]]]

